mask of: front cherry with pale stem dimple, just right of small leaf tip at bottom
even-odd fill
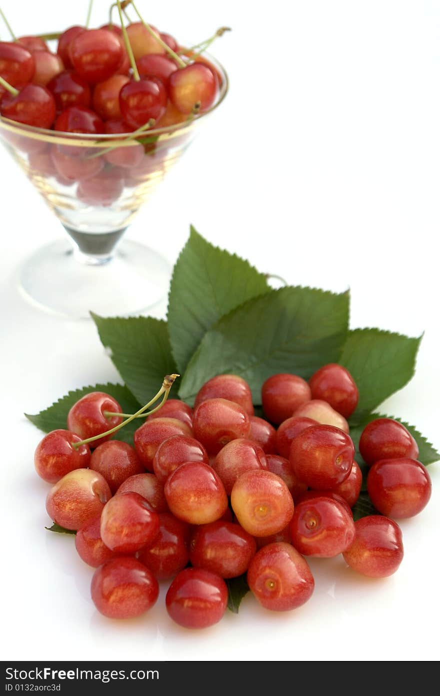
[[[261,606],[272,611],[300,607],[315,587],[307,560],[282,542],[257,551],[247,571],[247,583]]]

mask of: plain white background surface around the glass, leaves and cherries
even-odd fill
[[[85,16],[86,0],[2,8],[25,34],[80,23],[82,5]],[[102,23],[108,3],[95,5]],[[425,331],[416,377],[382,410],[438,448],[440,1],[192,0],[152,10],[161,30],[190,40],[234,28],[213,51],[231,91],[129,237],[174,261],[192,222],[291,283],[350,286],[353,327]],[[47,484],[32,461],[40,434],[22,413],[117,375],[92,324],[38,313],[17,294],[17,265],[60,227],[6,152],[0,171],[3,659],[438,658],[438,465],[429,507],[402,523],[405,560],[388,580],[314,560],[304,607],[277,615],[247,596],[238,616],[200,633],[173,625],[163,596],[136,621],[97,614],[73,539],[44,531]]]

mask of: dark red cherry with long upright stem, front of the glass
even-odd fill
[[[165,113],[167,92],[157,77],[130,81],[119,95],[122,118],[133,128],[145,125],[150,119],[158,120]]]

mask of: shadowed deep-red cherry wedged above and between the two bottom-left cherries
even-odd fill
[[[158,580],[168,580],[188,564],[190,528],[169,512],[162,512],[159,520],[158,537],[152,546],[139,552],[139,560]]]

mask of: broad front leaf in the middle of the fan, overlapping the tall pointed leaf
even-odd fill
[[[349,295],[310,287],[270,290],[222,317],[205,335],[181,381],[179,394],[193,404],[215,374],[239,374],[250,383],[254,404],[271,374],[304,379],[337,362],[347,338]]]

